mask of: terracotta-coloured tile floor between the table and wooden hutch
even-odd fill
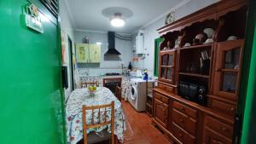
[[[151,124],[145,112],[137,112],[129,102],[122,101],[122,104],[126,119],[124,144],[172,144]]]

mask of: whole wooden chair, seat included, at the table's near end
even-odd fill
[[[110,120],[107,119],[107,111],[106,108],[110,107],[111,108],[111,118]],[[103,118],[103,122],[101,119],[101,109],[104,109],[104,117]],[[91,124],[87,124],[86,123],[86,111],[91,110],[92,111],[92,119],[91,119]],[[95,113],[95,110],[98,110],[97,113]],[[95,123],[95,114],[98,115],[98,123]],[[87,129],[94,129],[94,128],[98,128],[101,126],[105,126],[111,124],[111,136],[109,136],[110,134],[108,133],[108,131],[105,132],[106,135],[108,136],[104,136],[104,137],[100,137],[97,136],[96,134],[92,134],[92,135],[87,135]],[[111,102],[111,104],[108,105],[101,105],[101,106],[94,106],[94,107],[86,107],[83,106],[83,127],[84,127],[84,144],[88,144],[88,143],[97,143],[97,142],[101,142],[101,141],[107,141],[109,140],[109,138],[111,138],[111,144],[114,144],[114,101]],[[110,143],[110,142],[109,142]]]

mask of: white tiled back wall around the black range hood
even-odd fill
[[[75,43],[82,43],[84,37],[89,37],[89,43],[101,42],[101,63],[95,67],[88,67],[88,65],[79,65],[79,72],[87,71],[89,74],[102,75],[106,72],[121,72],[121,63],[124,62],[124,66],[128,66],[131,61],[131,41],[120,40],[115,38],[115,49],[117,49],[121,55],[119,60],[104,60],[104,53],[108,49],[108,33],[106,32],[74,32]]]

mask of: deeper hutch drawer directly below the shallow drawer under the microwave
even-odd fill
[[[172,121],[182,127],[183,130],[188,131],[190,134],[196,134],[196,121],[175,109],[172,110]]]

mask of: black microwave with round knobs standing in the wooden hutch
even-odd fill
[[[189,101],[205,106],[207,104],[207,88],[200,84],[193,84],[189,82],[179,82],[177,95]]]

